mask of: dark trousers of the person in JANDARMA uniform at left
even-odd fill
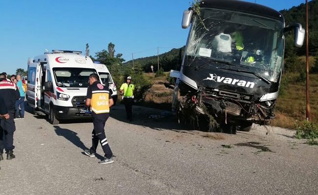
[[[0,118],[0,151],[6,152],[14,149],[13,133],[16,131],[14,123],[14,110],[8,111],[9,119]]]

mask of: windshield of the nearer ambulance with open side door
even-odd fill
[[[90,68],[53,68],[58,87],[88,87],[89,76],[96,73]]]

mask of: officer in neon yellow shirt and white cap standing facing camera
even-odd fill
[[[127,119],[130,121],[133,120],[133,99],[135,90],[135,85],[133,85],[131,82],[132,78],[127,77],[126,83],[123,83],[119,89],[119,92],[123,96]]]

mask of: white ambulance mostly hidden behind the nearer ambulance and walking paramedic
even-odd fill
[[[102,84],[106,85],[106,83],[108,83],[109,89],[112,91],[112,98],[115,104],[117,100],[117,89],[111,73],[109,72],[107,66],[105,64],[101,64],[99,61],[94,61],[94,65],[95,69],[98,72],[99,78],[102,81]]]

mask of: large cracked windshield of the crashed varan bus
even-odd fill
[[[283,39],[283,25],[279,21],[202,8],[201,17],[193,22],[186,60],[189,66],[197,67],[210,63],[232,69],[232,65],[236,70],[250,71],[276,82],[282,68]],[[227,64],[215,64],[216,61]]]

